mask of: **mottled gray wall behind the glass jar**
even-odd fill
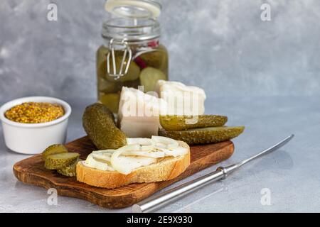
[[[58,21],[47,6],[58,4]],[[210,96],[320,94],[320,1],[164,0],[170,77]],[[262,3],[272,21],[260,19]],[[96,95],[104,0],[1,0],[0,99]]]

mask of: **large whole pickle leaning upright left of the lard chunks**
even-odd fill
[[[92,143],[100,150],[117,149],[126,145],[126,135],[117,128],[110,109],[103,104],[87,106],[82,125]]]

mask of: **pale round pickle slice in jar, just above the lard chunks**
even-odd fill
[[[166,79],[166,74],[153,67],[146,67],[140,74],[141,85],[144,86],[144,92],[154,91],[156,82],[159,79]]]

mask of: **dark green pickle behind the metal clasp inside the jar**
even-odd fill
[[[110,57],[110,73],[111,74],[119,74],[120,72],[120,67],[121,67],[121,63],[122,63],[122,57],[123,57],[123,53],[122,55],[116,55],[115,56],[115,65],[116,65],[116,71],[114,72],[113,69],[113,65],[112,65],[112,60]],[[107,61],[106,61],[107,62]],[[107,64],[107,63],[106,63]],[[122,69],[122,72],[125,71],[125,68],[127,67],[127,60],[124,62],[124,66]],[[107,69],[107,65],[106,65],[106,69]],[[107,70],[106,70],[107,72]],[[117,79],[116,77],[112,77],[109,74],[106,73],[107,79],[110,80],[111,82],[127,82],[127,81],[132,81],[132,80],[136,80],[139,79],[139,74],[140,74],[140,67],[136,64],[136,62],[131,61],[130,65],[129,65],[129,69],[127,74],[124,74],[124,76],[119,77],[119,79]]]

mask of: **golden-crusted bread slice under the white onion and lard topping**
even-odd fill
[[[123,175],[117,171],[97,170],[78,162],[77,180],[95,187],[113,189],[132,183],[160,182],[174,179],[190,165],[190,147],[182,141],[178,141],[178,143],[180,146],[188,148],[186,155],[161,158],[154,164],[137,168],[129,175]]]

